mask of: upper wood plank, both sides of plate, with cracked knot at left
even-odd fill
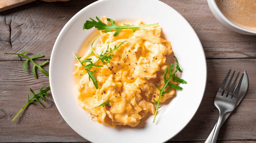
[[[33,54],[43,54],[40,59],[50,59],[53,44],[62,27],[75,13],[94,1],[35,1],[1,12],[0,27],[5,30],[0,30],[0,53],[30,50]],[[162,1],[181,13],[192,25],[202,42],[206,58],[256,57],[256,36],[225,28],[213,16],[206,0]],[[1,55],[0,60],[17,59]]]

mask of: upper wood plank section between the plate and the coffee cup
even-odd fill
[[[206,0],[163,2],[177,10],[191,24],[202,42],[206,58],[256,56],[256,36],[239,34],[224,27],[211,13]]]

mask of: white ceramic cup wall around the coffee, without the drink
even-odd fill
[[[216,17],[216,19],[223,24],[228,29],[235,31],[237,33],[245,34],[245,35],[256,35],[256,31],[247,30],[244,28],[241,28],[232,22],[230,22],[220,11],[218,6],[215,3],[215,0],[207,0],[209,8],[211,9],[213,15]]]

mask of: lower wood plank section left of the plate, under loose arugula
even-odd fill
[[[28,63],[27,71],[24,72],[23,62],[0,61],[0,142],[86,141],[61,117],[51,91],[47,92],[50,97],[45,97],[46,102],[40,99],[45,108],[37,102],[32,103],[14,122],[11,121],[27,103],[27,95],[33,95],[29,88],[38,93],[41,87],[49,86],[48,76],[39,70],[38,79],[34,78],[31,63]],[[49,62],[44,69],[49,72]]]

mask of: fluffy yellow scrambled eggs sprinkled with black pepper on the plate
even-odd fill
[[[101,21],[108,24],[106,17]],[[141,21],[129,23],[130,25],[142,25]],[[124,24],[117,24],[124,25]],[[164,86],[164,70],[169,66],[166,63],[166,55],[172,53],[171,43],[160,37],[160,25],[138,28],[134,33],[132,29],[123,29],[117,36],[115,31],[104,33],[100,31],[97,47],[103,53],[107,48],[114,49],[109,63],[101,61],[90,71],[98,81],[96,89],[92,80],[83,66],[78,62],[75,64],[74,75],[80,78],[75,86],[78,104],[91,114],[95,120],[110,127],[116,125],[128,125],[136,127],[139,120],[148,112],[155,113],[154,99],[158,100],[159,88]],[[109,50],[109,49],[108,49]],[[81,57],[81,61],[91,58],[96,62],[98,57],[90,53]],[[84,63],[88,65],[89,63]],[[169,74],[167,74],[169,76]],[[177,84],[170,80],[170,83]],[[172,97],[175,89],[171,88],[168,93],[160,98],[160,102]],[[109,101],[105,106],[99,106]],[[99,106],[99,107],[97,107]],[[97,107],[97,108],[96,108]]]

